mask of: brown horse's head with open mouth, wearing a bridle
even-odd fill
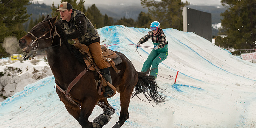
[[[50,18],[49,15],[45,19],[34,26],[28,34],[19,39],[19,46],[23,52],[29,53],[34,50],[42,50],[52,45],[54,36],[57,34],[54,26],[57,21],[57,16]]]

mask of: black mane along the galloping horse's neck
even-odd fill
[[[48,21],[48,19],[51,19],[51,18],[47,18],[45,20]],[[68,43],[68,39],[66,37],[66,33],[63,31],[63,29],[61,28],[60,24],[57,22],[55,23],[55,27],[57,30],[59,30],[59,35],[60,35],[60,38],[61,38],[61,41],[63,42],[63,44],[65,44],[68,48],[68,51],[70,52],[70,54],[73,54],[75,56],[75,58],[82,64],[85,64],[84,62],[84,55],[79,52],[73,45],[69,44]]]

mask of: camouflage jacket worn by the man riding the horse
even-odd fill
[[[78,17],[81,19],[81,16],[84,16],[85,18],[85,22],[83,23],[77,21]],[[73,12],[71,14],[71,20],[69,22],[60,18],[58,23],[67,34],[68,39],[78,38],[80,43],[86,45],[90,45],[94,42],[100,41],[99,34],[96,28],[94,28],[94,26],[92,25],[91,21],[85,16],[83,12],[77,9],[73,9]],[[82,35],[82,33],[85,33],[85,35]]]

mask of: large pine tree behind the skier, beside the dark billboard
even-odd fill
[[[175,28],[183,30],[183,17],[180,8],[189,5],[181,0],[140,0],[142,6],[147,7],[153,20],[161,24],[161,28]]]

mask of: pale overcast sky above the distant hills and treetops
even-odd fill
[[[54,2],[54,5],[60,4],[61,0],[33,0],[38,1],[40,4],[45,3],[46,5],[51,5]],[[79,1],[79,0],[77,0]],[[185,2],[186,0],[181,0]],[[221,0],[187,0],[191,5],[220,5]],[[108,4],[108,5],[116,5],[116,4],[140,4],[140,0],[85,0],[85,4]]]

